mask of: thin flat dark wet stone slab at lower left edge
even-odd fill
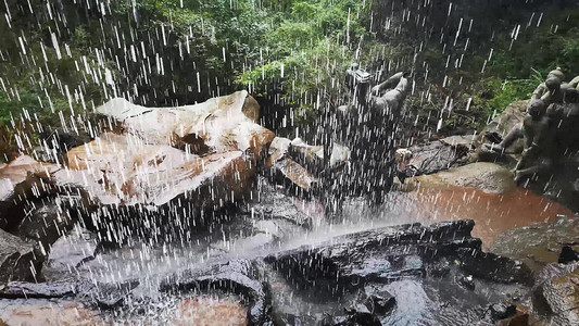
[[[0,298],[62,298],[76,293],[75,283],[11,281],[0,289]]]

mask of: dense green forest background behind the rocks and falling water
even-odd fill
[[[7,0],[0,160],[84,129],[113,97],[180,105],[249,89],[277,133],[314,135],[353,62],[412,73],[408,128],[479,130],[557,66],[579,75],[572,0]],[[288,135],[290,137],[294,135]],[[28,146],[29,145],[29,146]]]

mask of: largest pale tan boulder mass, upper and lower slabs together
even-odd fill
[[[246,192],[275,137],[254,123],[259,108],[246,91],[178,108],[114,99],[97,112],[116,121],[116,134],[72,149],[70,170],[55,177],[60,185],[83,185],[102,204],[185,198],[221,208]]]

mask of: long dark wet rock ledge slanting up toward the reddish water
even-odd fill
[[[480,241],[470,237],[473,227],[471,221],[386,227],[304,246],[265,261],[298,287],[338,293],[369,281],[424,276],[425,259],[454,255],[458,248],[480,250]]]

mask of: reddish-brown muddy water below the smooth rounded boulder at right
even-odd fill
[[[421,222],[474,220],[473,236],[480,238],[484,248],[509,229],[554,221],[557,214],[572,215],[561,204],[521,188],[506,196],[458,187],[420,190],[410,196]]]

